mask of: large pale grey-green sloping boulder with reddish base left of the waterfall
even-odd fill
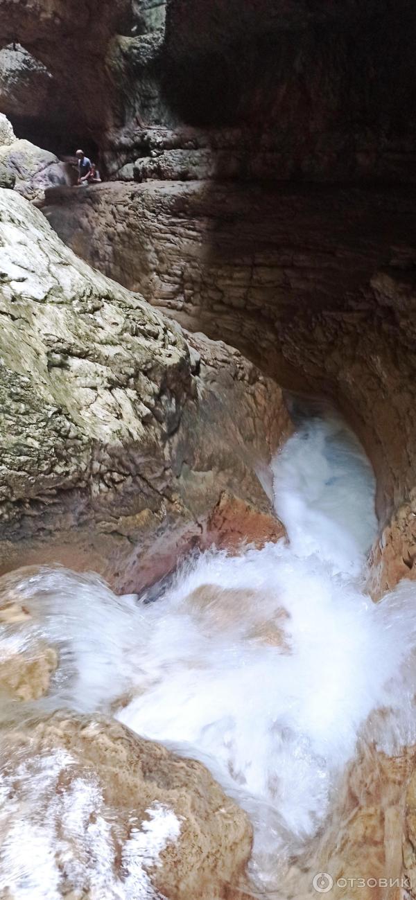
[[[2,571],[60,562],[139,590],[209,543],[222,491],[269,514],[290,430],[276,384],[224,344],[187,343],[14,192],[0,237]]]

